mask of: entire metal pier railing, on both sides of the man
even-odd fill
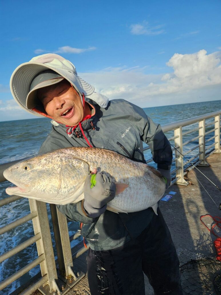
[[[170,137],[168,139],[171,142],[173,141],[173,145],[176,148],[172,148],[174,151],[173,163],[175,165],[171,171],[171,174],[174,174],[172,183],[187,185],[188,183],[184,179],[184,176],[187,173],[186,170],[187,168],[188,170],[193,168],[185,168],[185,166],[188,164],[188,161],[183,159],[179,152],[185,155],[185,157],[188,157],[189,161],[194,161],[195,165],[203,166],[208,166],[206,159],[209,155],[212,153],[221,153],[220,114],[221,111],[213,112],[162,126],[164,133],[169,132]],[[206,122],[206,120],[210,120],[212,122]],[[195,124],[197,124],[197,127],[194,126]],[[188,127],[190,130],[185,131],[185,127]],[[213,134],[210,137],[211,133]],[[192,137],[190,138],[190,136]],[[185,137],[188,138],[183,142],[183,138]],[[211,141],[213,142],[211,143]],[[193,146],[189,148],[189,145]],[[148,150],[149,147],[143,148],[143,145],[141,145],[141,151],[146,152]],[[195,152],[194,155],[192,155],[193,152]],[[152,158],[148,159],[147,163],[150,163],[151,161]],[[3,176],[4,169],[15,162],[18,161],[0,165],[0,182],[5,181]],[[6,197],[0,200],[0,207],[10,204],[11,202],[17,201],[21,198],[22,197],[20,196]],[[0,255],[0,263],[32,245],[33,243],[36,243],[37,245],[38,258],[2,281],[0,283],[0,290],[4,289],[11,282],[17,280],[24,273],[27,273],[32,268],[40,264],[42,278],[35,282],[34,285],[29,287],[22,294],[32,294],[32,292],[36,289],[42,291],[43,294],[53,294],[52,291],[57,292],[57,294],[65,294],[85,275],[82,272],[73,271],[73,259],[76,259],[81,254],[83,254],[88,249],[88,247],[82,247],[72,255],[70,241],[79,237],[80,232],[77,231],[75,234],[69,237],[66,217],[57,210],[57,207],[54,204],[50,204],[58,257],[58,276],[55,265],[55,256],[52,248],[46,204],[44,202],[29,199],[29,206],[30,213],[15,220],[14,222],[11,222],[10,224],[5,225],[4,227],[1,227],[0,235],[32,219],[34,236],[25,242],[22,242],[20,245],[12,248],[11,250],[8,250],[6,253]]]

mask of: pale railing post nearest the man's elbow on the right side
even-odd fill
[[[174,129],[174,137],[176,137],[174,139],[175,147],[178,146],[177,150],[182,154],[183,153],[182,127]],[[178,181],[176,182],[176,184],[187,186],[189,183],[185,181],[184,179],[183,157],[177,150],[175,150],[175,157],[178,159],[176,160],[175,163],[176,163],[176,167],[180,167],[180,168],[176,171],[176,177],[178,177]]]

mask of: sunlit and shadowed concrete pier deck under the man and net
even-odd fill
[[[209,167],[197,166],[197,168],[218,187],[221,187],[221,154],[212,154],[207,158],[207,162],[210,164]],[[221,192],[196,169],[188,173],[188,178],[192,184],[171,186],[165,194],[168,194],[169,191],[175,191],[177,194],[168,202],[160,202],[160,209],[171,232],[179,260],[183,263],[196,259],[200,255],[215,253],[213,241],[216,237],[200,222],[200,216],[210,214],[221,217],[221,211],[217,208],[221,203]],[[204,221],[208,227],[213,223],[209,217]],[[86,253],[75,262],[75,269],[79,268],[86,273]],[[146,294],[154,294],[147,278],[145,278],[145,284]],[[37,291],[34,294],[40,293]],[[66,294],[90,295],[87,275]]]

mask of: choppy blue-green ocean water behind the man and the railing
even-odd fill
[[[172,106],[159,106],[144,108],[146,114],[153,119],[154,122],[160,123],[161,125],[176,122],[182,119],[187,119],[202,114],[207,114],[210,112],[216,112],[221,110],[221,100],[219,101],[208,101],[192,104],[178,104]],[[206,123],[212,122],[211,119],[207,119]],[[193,124],[191,128],[197,124]],[[211,130],[214,125],[207,127],[207,130]],[[184,132],[189,130],[190,127],[184,127]],[[0,122],[0,164],[10,162],[17,159],[27,158],[30,156],[37,155],[41,143],[46,138],[47,134],[50,132],[51,123],[50,119],[47,118],[37,118],[37,119],[26,119],[18,121],[7,121]],[[207,135],[210,138],[214,135],[214,132]],[[173,136],[173,132],[167,132],[167,137]],[[183,141],[187,141],[190,138],[196,137],[197,132],[191,133],[183,138]],[[214,140],[208,142],[207,146],[211,145]],[[171,142],[173,144],[173,142]],[[198,142],[192,142],[185,146],[184,152]],[[144,146],[146,146],[144,144]],[[190,158],[192,155],[197,154],[198,149],[193,151],[188,155]],[[145,152],[145,158],[151,158],[150,151]],[[156,166],[154,162],[150,163]],[[173,168],[173,167],[172,167]],[[0,183],[0,199],[7,197],[5,189],[10,185],[8,181]],[[53,237],[53,230],[51,225],[51,217],[49,206],[47,207],[50,221],[50,229]],[[28,200],[22,198],[6,206],[0,207],[0,227],[13,222],[15,219],[23,217],[29,213],[29,203]],[[69,234],[71,235],[75,232],[79,225],[76,222],[69,222]],[[9,249],[21,244],[28,238],[34,235],[32,228],[32,221],[22,224],[15,229],[6,232],[4,235],[0,236],[0,255]],[[73,241],[71,246],[79,242]],[[55,242],[53,239],[53,248],[56,256]],[[19,252],[17,255],[5,260],[0,264],[0,282],[5,278],[9,277],[15,271],[21,269],[29,262],[37,258],[37,249],[35,244],[29,246],[25,250]],[[12,291],[17,289],[22,283],[27,281],[29,278],[34,276],[40,271],[39,266],[32,269],[29,273],[22,276],[20,279],[9,285],[0,294],[10,294]]]

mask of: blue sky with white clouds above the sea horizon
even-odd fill
[[[47,52],[110,99],[141,107],[221,99],[220,0],[0,3],[0,121],[33,117],[9,80]]]

